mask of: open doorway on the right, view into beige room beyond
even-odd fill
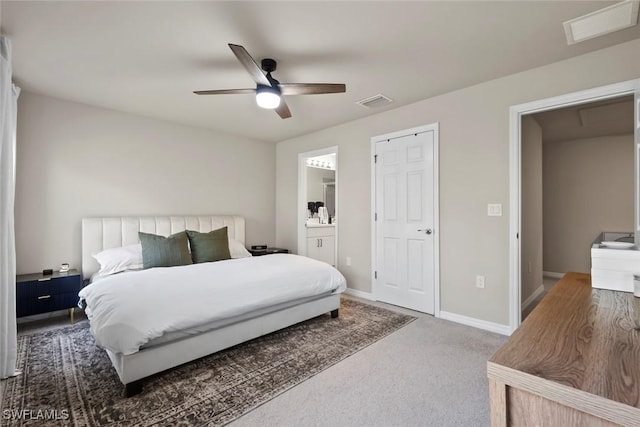
[[[603,231],[633,235],[633,96],[522,116],[522,319]]]

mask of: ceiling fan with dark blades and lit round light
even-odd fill
[[[220,89],[220,90],[197,90],[196,95],[226,95],[254,93],[256,102],[262,108],[275,110],[283,119],[291,117],[291,111],[284,100],[284,95],[318,95],[324,93],[342,93],[347,90],[341,83],[280,83],[271,76],[276,70],[277,62],[271,58],[265,58],[258,67],[247,50],[237,44],[229,43],[231,51],[236,55],[238,61],[249,72],[256,82],[253,89]],[[265,74],[266,73],[266,74]]]

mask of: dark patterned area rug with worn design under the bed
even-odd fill
[[[88,323],[22,335],[18,369],[0,381],[1,425],[223,425],[415,320],[343,298],[316,317],[123,386]]]

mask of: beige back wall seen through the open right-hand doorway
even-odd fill
[[[633,135],[543,144],[544,270],[591,272],[601,231],[633,231]]]

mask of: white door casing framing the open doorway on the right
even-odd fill
[[[553,98],[533,101],[526,104],[512,106],[510,109],[510,189],[509,189],[509,330],[510,332],[520,325],[521,322],[521,239],[522,232],[522,118],[528,114],[540,113],[543,111],[559,109],[568,106],[586,104],[590,102],[603,101],[625,95],[634,96],[634,150],[635,150],[635,172],[634,172],[634,232],[636,242],[638,231],[640,230],[639,209],[640,197],[638,196],[640,168],[638,155],[640,154],[640,79],[627,82],[561,95]],[[527,266],[528,267],[528,266]]]

